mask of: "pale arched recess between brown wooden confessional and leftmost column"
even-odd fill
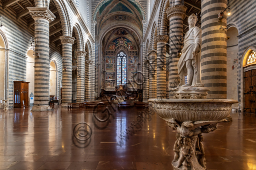
[[[29,82],[28,86],[28,97],[31,93],[34,95],[34,51],[29,49],[26,53],[26,82]],[[33,105],[29,101],[30,105]]]

